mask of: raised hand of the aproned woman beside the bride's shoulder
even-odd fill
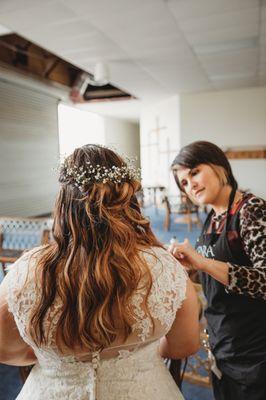
[[[200,255],[185,239],[183,243],[173,243],[168,251],[186,268],[203,270],[206,258]]]

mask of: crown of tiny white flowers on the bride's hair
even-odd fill
[[[113,165],[107,168],[99,164],[92,165],[90,162],[86,162],[85,166],[77,166],[66,159],[60,167],[60,182],[73,184],[83,192],[93,183],[140,181],[140,168],[134,165],[136,160],[127,158],[126,161],[121,167]]]

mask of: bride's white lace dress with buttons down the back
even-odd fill
[[[11,266],[6,277],[9,310],[14,315],[20,335],[34,349],[38,360],[17,399],[183,399],[159,356],[158,345],[159,338],[171,328],[176,311],[185,298],[187,276],[180,264],[163,249],[151,248],[143,256],[148,260],[153,277],[148,307],[155,323],[154,333],[151,321],[142,309],[145,292],[140,285],[133,298],[133,334],[125,344],[103,350],[100,354],[94,353],[90,361],[60,355],[52,335],[47,347],[36,347],[26,332],[30,310],[36,299],[33,278],[36,257],[29,252]],[[58,309],[60,304],[46,320],[45,327],[49,326],[49,332],[54,330]]]

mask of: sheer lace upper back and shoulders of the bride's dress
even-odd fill
[[[36,343],[31,334],[32,310],[36,304],[40,303],[43,296],[39,272],[39,260],[43,251],[43,249],[35,249],[25,254],[12,266],[10,272],[12,307],[17,315],[17,323],[20,331],[23,332],[23,338],[34,347],[36,353],[40,350],[41,356],[48,352],[48,358],[53,353],[58,358],[73,356],[76,360],[83,362],[91,361],[92,354],[97,349],[89,346],[82,347],[78,340],[73,340],[71,347],[66,346],[61,337],[57,338],[59,321],[64,310],[63,301],[58,292],[43,319],[45,341],[41,344]],[[164,336],[171,328],[176,311],[185,298],[186,275],[167,251],[160,247],[150,247],[145,251],[140,251],[140,259],[148,266],[151,287],[147,289],[147,275],[143,274],[129,299],[131,332],[126,338],[117,305],[113,306],[111,316],[115,339],[100,349],[101,359],[117,357],[122,350],[136,350]],[[145,305],[145,299],[147,305]],[[100,339],[97,332],[95,332],[95,337]]]

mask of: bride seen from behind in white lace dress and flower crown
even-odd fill
[[[17,399],[182,399],[161,356],[197,351],[197,300],[140,212],[136,170],[87,145],[59,181],[54,241],[0,287],[0,362],[35,363]]]

